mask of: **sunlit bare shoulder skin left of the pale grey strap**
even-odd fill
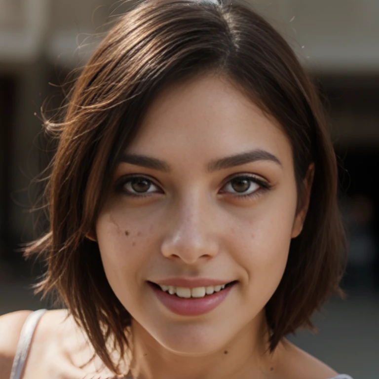
[[[19,310],[0,316],[0,379],[10,377],[21,329],[30,313]]]

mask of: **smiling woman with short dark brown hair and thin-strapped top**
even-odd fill
[[[25,255],[64,309],[2,316],[5,378],[349,378],[285,339],[343,295],[344,234],[316,89],[260,16],[140,3],[46,128],[50,229]]]

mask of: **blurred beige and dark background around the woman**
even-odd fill
[[[342,287],[314,315],[317,335],[291,341],[354,379],[379,378],[379,0],[259,0],[315,79],[339,156],[341,208],[349,237]],[[56,87],[85,63],[114,0],[0,0],[0,315],[50,307],[33,295],[41,265],[18,250],[34,236],[31,180],[49,153],[40,107],[59,107]],[[87,39],[86,39],[87,38]],[[89,38],[89,39],[88,39]]]

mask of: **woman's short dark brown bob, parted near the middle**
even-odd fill
[[[50,226],[24,253],[46,263],[36,293],[57,293],[117,375],[108,342],[124,356],[131,316],[107,281],[97,243],[85,236],[94,231],[117,160],[154,98],[170,84],[207,73],[227,76],[281,125],[292,146],[298,208],[314,164],[303,231],[291,241],[284,275],[265,306],[270,352],[298,328],[315,331],[312,313],[333,293],[344,295],[336,156],[317,89],[290,46],[236,0],[139,1],[84,66],[63,122],[45,123],[58,139],[45,191]]]

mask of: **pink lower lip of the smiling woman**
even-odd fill
[[[176,295],[170,295],[167,292],[156,288],[154,285],[150,284],[156,297],[163,303],[168,309],[173,313],[179,314],[181,316],[200,316],[202,314],[210,312],[212,309],[216,308],[221,304],[227,297],[232,285],[227,286],[224,290],[220,292],[214,292],[212,295],[206,295],[203,298],[179,298]]]

